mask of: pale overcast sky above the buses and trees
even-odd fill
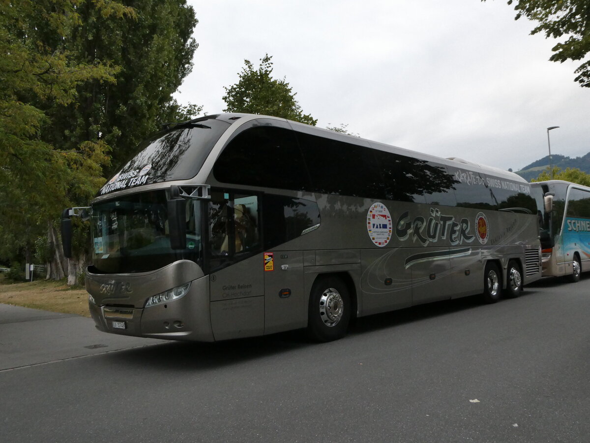
[[[244,59],[268,53],[317,126],[439,157],[520,170],[590,151],[581,61],[548,61],[555,40],[529,35],[506,0],[189,0],[199,24],[181,103],[225,108]]]

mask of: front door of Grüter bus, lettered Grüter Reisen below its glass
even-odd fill
[[[264,271],[259,197],[213,190],[205,224],[215,340],[264,333]]]

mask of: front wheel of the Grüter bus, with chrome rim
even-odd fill
[[[332,341],[346,335],[352,302],[344,282],[319,276],[312,286],[307,311],[307,334],[314,341]]]

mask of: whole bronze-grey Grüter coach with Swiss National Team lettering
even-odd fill
[[[68,249],[70,217],[63,217]],[[217,341],[540,278],[536,204],[511,172],[258,115],[169,125],[91,203],[101,331]]]

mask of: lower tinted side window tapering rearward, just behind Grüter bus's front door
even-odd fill
[[[271,249],[319,227],[320,210],[314,201],[266,194],[263,204],[264,249]]]

